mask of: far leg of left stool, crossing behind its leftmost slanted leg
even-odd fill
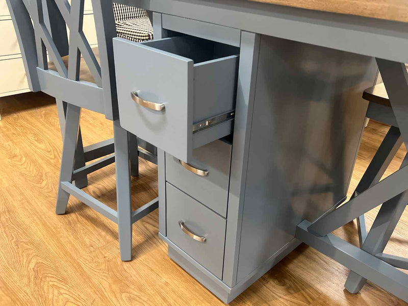
[[[60,120],[62,139],[64,140],[67,103],[59,99],[56,99],[56,102],[57,102],[58,118]],[[85,155],[84,155],[84,146],[82,143],[82,135],[81,135],[81,128],[80,128],[79,135],[78,135],[77,149],[75,151],[74,170],[82,168],[84,166],[85,166]],[[75,180],[73,182],[73,185],[81,189],[88,186],[88,179],[87,179],[86,174],[80,177],[79,179]]]

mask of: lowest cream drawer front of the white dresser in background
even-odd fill
[[[0,61],[0,71],[1,93],[29,87],[22,58]]]

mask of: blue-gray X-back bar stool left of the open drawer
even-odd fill
[[[98,47],[91,48],[83,31],[84,0],[7,0],[32,91],[57,100],[63,133],[56,213],[64,214],[70,195],[118,224],[121,259],[132,258],[132,224],[158,207],[158,198],[132,212],[130,174],[138,174],[138,156],[157,162],[151,152],[137,148],[137,137],[119,124],[112,38],[116,37],[110,0],[92,1]],[[66,31],[69,28],[69,40]],[[47,54],[50,62],[47,60]],[[81,57],[82,56],[82,57]],[[114,141],[83,149],[81,109],[113,121]],[[115,152],[114,152],[115,151]],[[97,162],[85,162],[100,157]],[[131,158],[131,156],[133,158]],[[116,162],[117,211],[85,193],[86,175]],[[132,164],[132,166],[131,166]],[[73,181],[77,184],[73,184]]]

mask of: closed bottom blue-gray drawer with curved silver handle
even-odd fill
[[[166,183],[167,238],[183,249],[203,267],[218,278],[222,278],[226,221],[192,197]],[[183,232],[199,237],[204,242],[194,240]]]

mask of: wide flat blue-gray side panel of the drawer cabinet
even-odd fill
[[[375,74],[369,57],[261,37],[238,281],[346,195]]]

